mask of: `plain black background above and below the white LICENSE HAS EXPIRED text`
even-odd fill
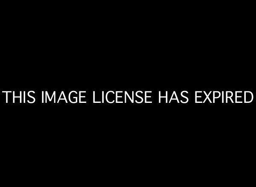
[[[131,184],[250,178],[255,101],[196,105],[193,96],[255,94],[247,7],[42,7],[3,13],[1,91],[152,90],[154,104],[2,102],[5,176]],[[157,104],[157,91],[183,90],[187,105]]]

